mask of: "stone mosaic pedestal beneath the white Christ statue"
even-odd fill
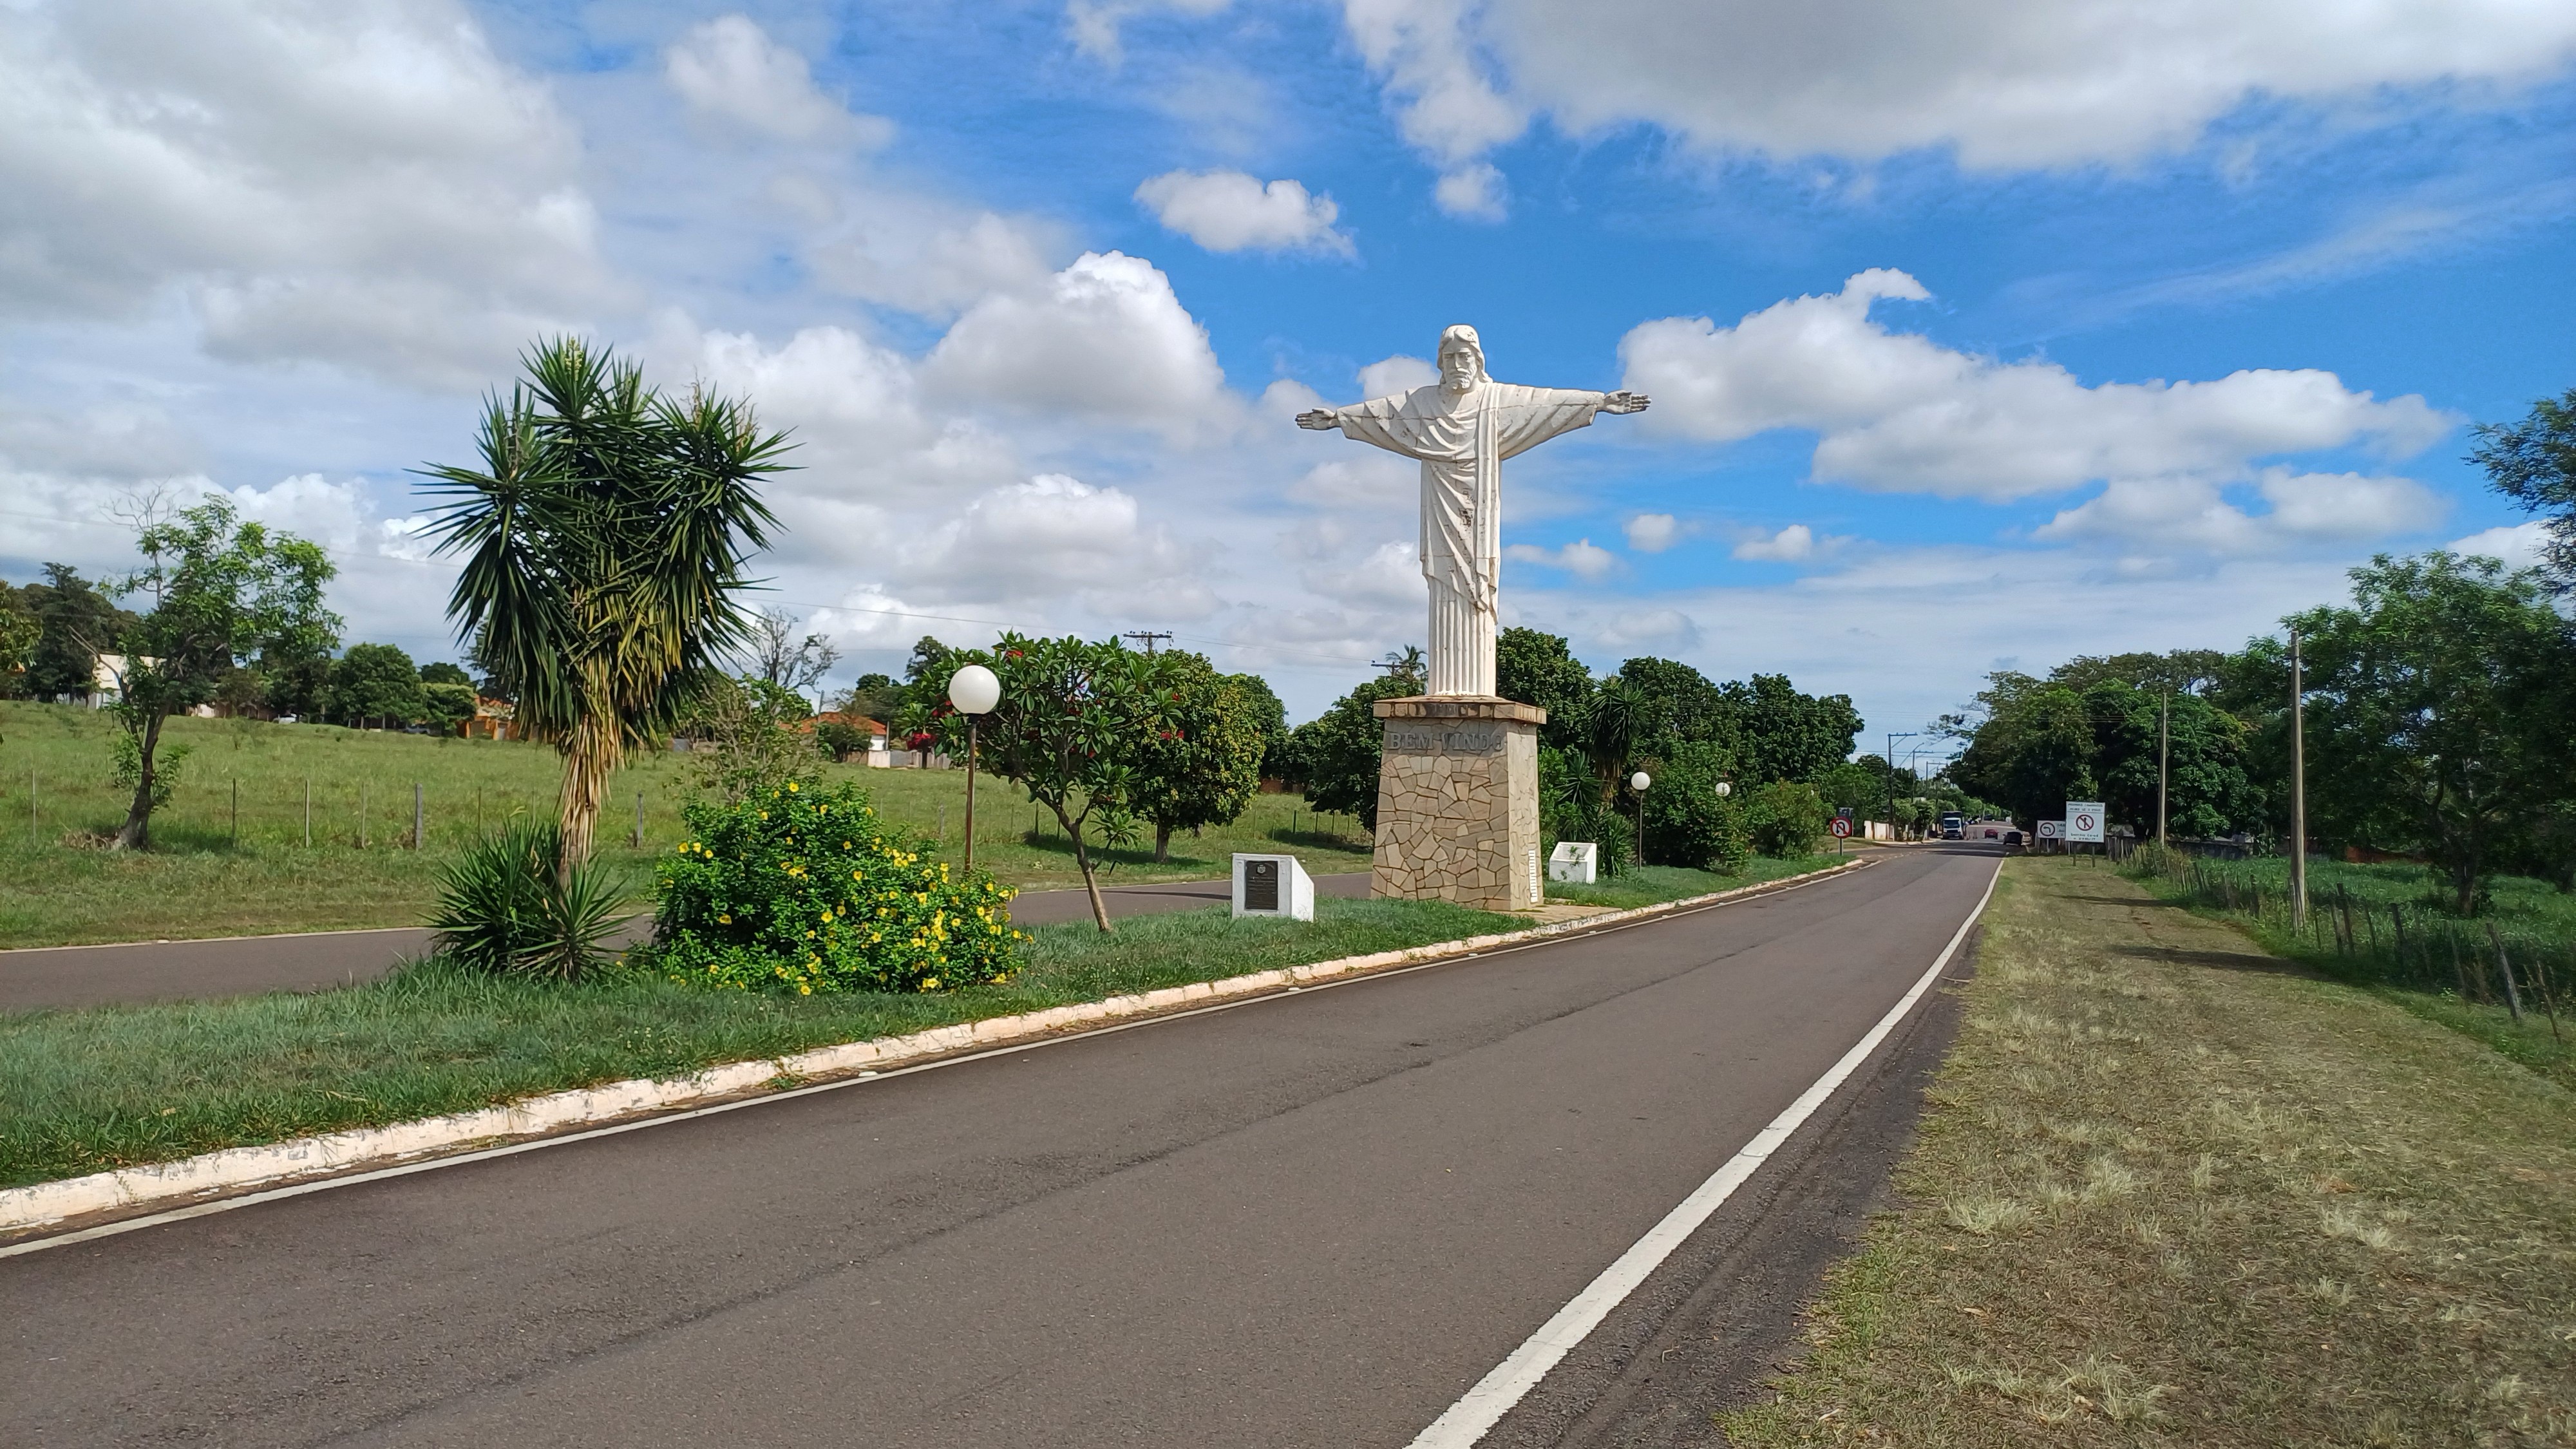
[[[1378,853],[1368,895],[1533,910],[1538,727],[1548,712],[1489,694],[1381,699]]]

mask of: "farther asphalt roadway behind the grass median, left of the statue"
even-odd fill
[[[1321,895],[1368,895],[1368,871],[1314,877],[1314,887]],[[1231,882],[1224,879],[1103,890],[1110,920],[1226,902],[1229,892]],[[1079,890],[1033,890],[1010,902],[1010,918],[1020,926],[1090,915],[1090,897]],[[639,923],[636,933],[641,931]],[[325,990],[376,980],[428,949],[430,931],[394,928],[0,951],[0,1011]]]

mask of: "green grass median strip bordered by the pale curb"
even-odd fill
[[[546,985],[430,962],[314,995],[0,1016],[0,1186],[1520,926],[1445,902],[1316,900],[1311,923],[1211,908],[1113,936],[1041,926],[1015,980],[938,995]]]

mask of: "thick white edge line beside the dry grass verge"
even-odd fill
[[[1486,1436],[1486,1431],[1502,1423],[1502,1415],[1510,1413],[1522,1395],[1535,1390],[1538,1379],[1548,1377],[1548,1369],[1574,1351],[1584,1336],[1600,1328],[1600,1323],[1610,1318],[1613,1307],[1625,1302],[1628,1294],[1633,1294],[1636,1287],[1643,1284],[1646,1276],[1682,1245],[1682,1240],[1698,1232],[1700,1225],[1708,1222],[1718,1207],[1734,1196],[1736,1189],[1744,1186],[1744,1181],[1752,1178],[1762,1163],[1777,1152],[1780,1145],[1788,1142],[1790,1134],[1798,1132],[1798,1127],[1806,1124],[1806,1119],[1814,1116],[1816,1109],[1824,1106],[1855,1070],[1860,1070],[1860,1062],[1870,1060],[1870,1052],[1888,1039],[1888,1031],[1896,1031],[1896,1024],[1904,1021],[1906,1013],[1914,1011],[1914,1003],[1922,1000],[1924,993],[1932,990],[1932,982],[1940,980],[1950,957],[1958,954],[1958,944],[1968,938],[1968,928],[1976,926],[1976,918],[1986,913],[1986,902],[1994,900],[1994,882],[2002,879],[2002,874],[2004,861],[1996,861],[1994,874],[1986,877],[1986,895],[1976,897],[1976,910],[1958,923],[1958,931],[1950,933],[1950,944],[1932,959],[1932,969],[1914,980],[1914,990],[1891,1006],[1888,1013],[1878,1018],[1878,1026],[1870,1026],[1868,1036],[1844,1052],[1832,1070],[1816,1078],[1816,1085],[1798,1093],[1798,1101],[1788,1104],[1788,1111],[1772,1116],[1770,1127],[1754,1132],[1754,1140],[1747,1142],[1741,1152],[1728,1158],[1723,1168],[1710,1173],[1710,1178],[1698,1186],[1698,1191],[1685,1196],[1680,1207],[1649,1227],[1646,1235],[1620,1253],[1615,1263],[1602,1269],[1602,1276],[1592,1279],[1584,1292],[1574,1294],[1566,1307],[1556,1310],[1556,1318],[1546,1320],[1538,1333],[1520,1343],[1520,1348],[1512,1348],[1510,1359],[1494,1364],[1494,1372],[1476,1379],[1476,1387],[1453,1403],[1448,1413],[1435,1418],[1430,1428],[1417,1434],[1409,1449],[1471,1449]]]

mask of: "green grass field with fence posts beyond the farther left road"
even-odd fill
[[[108,786],[113,727],[90,709],[0,701],[0,871],[10,882],[0,892],[0,949],[417,926],[438,866],[479,830],[513,810],[554,812],[559,766],[544,745],[173,719],[170,743],[193,750],[178,797],[152,817],[152,851],[113,853],[95,846],[126,812],[126,797]],[[884,817],[912,825],[938,853],[961,851],[963,771],[824,768],[858,779]],[[407,848],[415,784],[420,851]],[[600,820],[605,856],[644,882],[649,861],[683,838],[685,794],[688,755],[657,753],[618,771]],[[636,797],[641,851],[631,848]],[[1151,841],[1097,859],[1105,884],[1128,884],[1221,877],[1234,851],[1278,848],[1303,856],[1314,874],[1368,869],[1358,822],[1319,820],[1293,794],[1255,797],[1242,820],[1203,838],[1177,835],[1167,864],[1154,864]],[[1028,890],[1082,882],[1064,835],[1051,822],[1030,833],[1028,799],[992,776],[976,789],[976,864]]]

